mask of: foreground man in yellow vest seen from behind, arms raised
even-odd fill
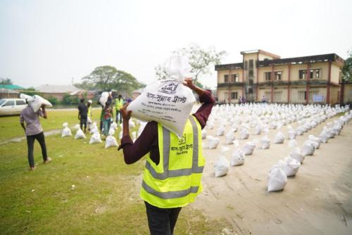
[[[205,159],[201,151],[201,129],[206,126],[215,99],[211,91],[197,87],[191,78],[184,80],[184,86],[195,91],[203,104],[196,113],[189,115],[180,139],[160,123],[148,122],[133,143],[128,103],[121,108],[123,136],[118,149],[123,149],[125,163],[135,163],[146,155],[140,196],[146,205],[152,235],[173,234],[182,207],[193,202],[203,189],[201,176]]]

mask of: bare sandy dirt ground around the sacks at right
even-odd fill
[[[335,118],[329,119],[331,122]],[[298,146],[309,134],[318,136],[326,122],[297,136]],[[296,127],[296,125],[292,125]],[[218,126],[207,130],[216,135]],[[287,127],[282,128],[287,134]],[[352,234],[352,122],[341,134],[322,144],[313,156],[306,157],[296,177],[289,177],[284,191],[267,192],[270,167],[290,152],[288,141],[271,144],[270,149],[256,148],[246,156],[244,165],[231,167],[225,177],[214,177],[217,149],[203,149],[207,163],[203,173],[204,191],[191,206],[208,217],[226,218],[234,234]],[[270,129],[270,140],[277,134]],[[239,132],[235,133],[239,139]],[[246,141],[260,139],[251,134]],[[225,136],[220,136],[220,144]],[[234,146],[230,145],[231,150]],[[226,153],[228,160],[231,153]]]

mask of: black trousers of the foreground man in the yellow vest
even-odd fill
[[[157,208],[144,201],[151,235],[172,235],[182,208]]]

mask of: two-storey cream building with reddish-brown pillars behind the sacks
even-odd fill
[[[344,60],[335,53],[280,58],[263,50],[241,51],[242,63],[216,65],[218,101],[339,103]]]

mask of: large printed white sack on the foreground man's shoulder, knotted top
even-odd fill
[[[182,136],[196,101],[191,89],[182,84],[184,78],[189,76],[191,66],[187,58],[172,56],[165,63],[165,70],[168,80],[159,80],[147,86],[127,110],[132,111],[134,118],[159,122],[166,129]]]

